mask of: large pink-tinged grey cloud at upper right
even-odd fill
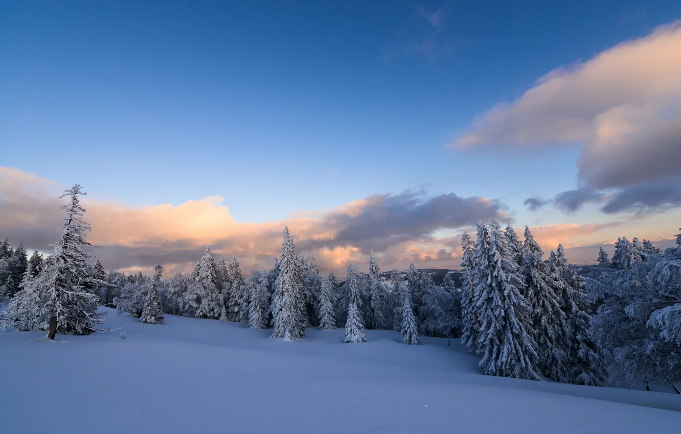
[[[604,207],[611,212],[629,209],[621,201],[634,197],[624,188],[658,184],[681,190],[681,22],[548,73],[513,103],[475,120],[453,146],[571,144],[584,148],[577,162],[579,188],[557,202],[564,210],[597,201],[596,192],[618,198]],[[656,197],[646,207],[678,206],[669,194]]]

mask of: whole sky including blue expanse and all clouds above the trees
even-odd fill
[[[574,263],[681,226],[678,1],[5,1],[0,237],[79,183],[104,267],[455,269],[496,218]]]

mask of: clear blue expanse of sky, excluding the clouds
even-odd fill
[[[519,224],[603,222],[522,205],[577,187],[580,143],[447,145],[677,18],[678,1],[5,1],[0,165],[131,206],[220,195],[240,222],[422,188]]]

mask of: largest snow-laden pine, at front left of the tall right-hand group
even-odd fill
[[[480,366],[488,375],[537,380],[531,310],[520,294],[524,284],[500,229],[492,220],[484,266],[477,264]]]

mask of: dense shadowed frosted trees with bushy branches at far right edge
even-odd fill
[[[665,252],[637,241],[622,237],[612,261],[601,249],[599,265],[584,267],[593,339],[610,382],[681,393],[681,233]]]

